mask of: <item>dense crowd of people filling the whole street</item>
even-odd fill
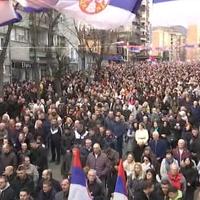
[[[50,78],[4,87],[0,200],[67,200],[74,147],[93,200],[112,199],[120,159],[129,200],[193,200],[200,63],[111,63],[93,72],[63,75],[62,94]]]

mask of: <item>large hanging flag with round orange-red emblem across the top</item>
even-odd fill
[[[94,28],[110,29],[132,22],[142,0],[17,0],[23,7],[53,8]]]

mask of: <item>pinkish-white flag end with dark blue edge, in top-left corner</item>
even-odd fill
[[[21,15],[15,11],[9,0],[0,0],[0,26],[5,26],[21,20]]]

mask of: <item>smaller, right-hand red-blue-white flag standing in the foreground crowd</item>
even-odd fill
[[[127,189],[126,189],[126,178],[125,178],[122,160],[120,160],[120,163],[118,166],[118,177],[117,177],[117,182],[115,185],[113,200],[128,200]]]

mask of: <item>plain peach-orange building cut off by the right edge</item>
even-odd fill
[[[189,25],[187,32],[187,60],[200,60],[200,25]]]

